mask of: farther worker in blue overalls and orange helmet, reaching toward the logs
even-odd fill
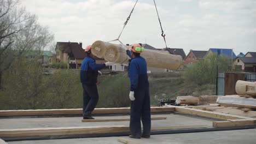
[[[94,119],[91,112],[98,103],[97,77],[98,70],[110,65],[110,62],[96,64],[94,55],[91,53],[91,45],[85,49],[86,57],[80,70],[80,81],[83,86],[83,119]]]

